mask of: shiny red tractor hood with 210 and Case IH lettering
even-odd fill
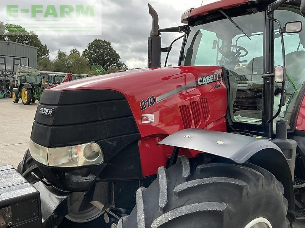
[[[220,113],[220,117],[225,115],[227,94],[222,76],[221,67],[217,66],[145,68],[65,82],[45,89],[45,96],[51,91],[53,93],[56,91],[63,91],[63,93],[71,91],[69,93],[72,93],[75,91],[75,96],[81,96],[80,93],[76,92],[80,90],[120,92],[127,99],[142,136],[154,131],[160,133],[160,129],[162,129],[162,133],[170,134],[181,130],[181,126],[173,126],[173,123],[170,123],[172,120],[169,120],[168,130],[164,126],[155,127],[159,124],[160,116],[180,112],[178,104],[189,104],[191,99],[196,100],[197,98],[200,102],[199,97],[204,94],[213,95],[212,99],[214,99],[214,94],[215,97],[216,95],[221,96],[223,99],[215,99],[214,103],[221,102],[218,105],[221,105],[224,111]],[[109,91],[109,96],[113,96],[110,95],[111,91]],[[89,91],[84,93],[87,94],[87,97],[92,96],[89,95],[92,94]],[[98,96],[105,96],[98,91],[95,93]],[[75,99],[79,103],[86,102],[85,97]],[[113,99],[117,98],[113,97]],[[149,128],[149,126],[154,127]]]

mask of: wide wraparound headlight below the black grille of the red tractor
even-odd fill
[[[97,143],[84,143],[71,147],[47,148],[30,141],[30,154],[34,160],[55,167],[78,167],[101,164],[102,148]]]

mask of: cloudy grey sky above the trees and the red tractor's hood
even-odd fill
[[[152,26],[152,19],[148,13],[148,3],[150,3],[159,14],[160,28],[172,27],[183,25],[180,22],[182,13],[192,7],[198,7],[201,5],[202,0],[52,0],[52,1],[23,1],[23,0],[4,0],[6,4],[16,4],[20,9],[25,8],[30,2],[31,5],[44,4],[44,7],[48,4],[63,5],[69,3],[75,5],[78,4],[92,4],[95,7],[95,21],[91,23],[97,28],[95,33],[91,35],[58,35],[59,32],[46,33],[41,29],[46,29],[43,23],[36,21],[35,25],[30,21],[30,16],[19,16],[19,21],[15,22],[27,30],[33,30],[41,39],[42,43],[48,45],[50,49],[50,57],[54,59],[58,49],[65,52],[69,52],[74,47],[81,53],[88,46],[88,43],[95,38],[102,40],[108,40],[112,43],[112,46],[120,54],[121,60],[127,64],[129,68],[146,67],[147,66],[147,39]],[[210,0],[204,0],[210,1]],[[56,6],[57,8],[57,6]],[[1,12],[2,11],[2,12]],[[98,15],[101,13],[101,19]],[[0,10],[0,21],[5,21],[6,9]],[[20,14],[20,12],[19,12]],[[6,21],[7,22],[7,21]],[[84,23],[90,25],[90,21],[83,20]],[[52,23],[52,22],[49,22]],[[54,22],[55,23],[55,22]],[[57,22],[58,23],[58,22]],[[73,22],[66,22],[73,28]],[[88,26],[87,24],[84,26]],[[82,33],[87,34],[87,33]],[[181,36],[180,33],[163,33],[162,35],[162,47],[170,45],[171,41]],[[180,51],[181,42],[176,42],[168,63],[177,65],[178,53]],[[162,62],[165,56],[162,56]]]

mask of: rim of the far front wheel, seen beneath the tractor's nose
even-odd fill
[[[87,203],[80,212],[69,213],[66,218],[74,223],[87,223],[104,214],[91,203]]]

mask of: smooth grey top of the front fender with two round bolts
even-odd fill
[[[258,151],[267,148],[277,150],[284,156],[281,149],[268,140],[196,128],[178,131],[167,136],[158,144],[198,150],[228,158],[237,164],[245,163]]]

